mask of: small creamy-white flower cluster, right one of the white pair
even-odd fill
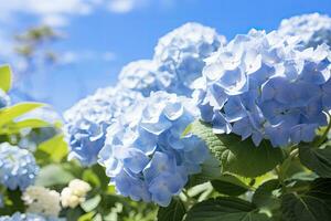
[[[64,208],[76,208],[85,201],[86,193],[90,190],[90,186],[79,179],[74,179],[70,182],[68,187],[64,188],[61,192],[61,203]]]

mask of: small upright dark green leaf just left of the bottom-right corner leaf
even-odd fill
[[[264,182],[257,188],[253,196],[252,202],[258,208],[265,208],[269,211],[280,207],[280,183],[279,180],[273,179]]]

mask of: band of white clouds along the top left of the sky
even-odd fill
[[[18,14],[36,17],[41,22],[63,27],[75,15],[108,9],[114,13],[128,13],[150,4],[169,6],[174,0],[0,0],[0,21],[9,23]]]

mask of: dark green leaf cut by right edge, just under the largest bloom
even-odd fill
[[[299,158],[302,165],[321,177],[331,178],[331,147],[299,147]]]

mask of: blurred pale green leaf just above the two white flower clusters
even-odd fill
[[[43,187],[67,185],[75,177],[64,170],[61,165],[47,165],[40,170],[35,185]]]

